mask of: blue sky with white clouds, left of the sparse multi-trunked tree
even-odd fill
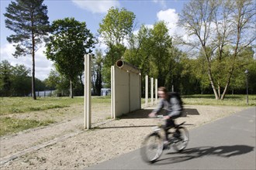
[[[24,64],[27,68],[32,67],[32,57],[22,56],[18,59],[12,56],[14,49],[12,44],[6,41],[6,36],[10,36],[12,31],[5,28],[5,8],[10,4],[10,0],[1,0],[1,61],[7,59],[12,66],[16,64]],[[176,27],[178,21],[178,12],[181,12],[183,5],[188,0],[45,0],[43,3],[47,5],[48,16],[50,22],[56,19],[64,19],[66,17],[74,17],[80,22],[86,22],[87,28],[93,34],[97,33],[99,23],[106,15],[109,8],[115,6],[117,8],[126,8],[128,11],[136,15],[135,22],[137,29],[141,24],[152,26],[155,22],[164,20],[169,23],[170,34],[180,31]],[[136,31],[135,30],[135,31]],[[104,46],[100,46],[104,48]],[[36,52],[36,78],[44,80],[47,78],[52,68],[52,62],[47,60],[43,55],[43,48]]]

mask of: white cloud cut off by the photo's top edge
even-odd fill
[[[92,13],[106,13],[112,6],[119,7],[118,1],[72,0],[75,5]]]

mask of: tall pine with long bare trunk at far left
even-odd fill
[[[47,6],[43,5],[43,0],[16,0],[9,4],[4,15],[6,28],[16,33],[7,37],[16,47],[12,55],[32,56],[32,94],[36,100],[35,53],[49,31]]]

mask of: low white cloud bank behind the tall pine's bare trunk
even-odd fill
[[[36,78],[40,80],[44,80],[49,76],[50,70],[52,68],[53,62],[47,59],[47,57],[43,54],[44,47],[40,48],[36,52],[35,57],[35,71],[36,71]],[[24,65],[26,68],[32,70],[32,57],[31,56],[19,56],[18,58],[15,58],[12,56],[12,53],[15,52],[15,48],[12,46],[12,44],[7,43],[3,46],[1,46],[1,62],[2,60],[7,60],[9,63],[11,63],[12,66],[16,66],[16,64]]]

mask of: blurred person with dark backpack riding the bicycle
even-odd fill
[[[168,93],[165,87],[159,87],[157,93],[161,100],[159,101],[157,108],[154,109],[148,116],[156,117],[161,109],[166,110],[167,114],[164,116],[165,147],[168,144],[168,129],[175,127],[175,118],[180,117],[182,114],[182,100],[178,93]],[[175,137],[179,137],[178,131],[176,131]]]

